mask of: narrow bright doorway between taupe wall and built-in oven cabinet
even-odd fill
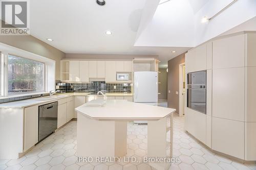
[[[179,116],[184,116],[185,108],[185,63],[179,65]]]

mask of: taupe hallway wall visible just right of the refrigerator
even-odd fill
[[[166,68],[159,68],[159,84],[158,92],[161,93],[158,95],[159,100],[167,100],[167,71]]]

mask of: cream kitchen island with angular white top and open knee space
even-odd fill
[[[147,157],[172,157],[173,113],[176,109],[125,100],[107,100],[102,107],[86,105],[88,103],[75,109],[78,113],[77,156],[125,156],[127,122],[147,120]],[[167,163],[149,164],[157,169],[167,169],[169,166]]]

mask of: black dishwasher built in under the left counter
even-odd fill
[[[57,129],[58,102],[41,105],[38,110],[38,142],[40,142]]]

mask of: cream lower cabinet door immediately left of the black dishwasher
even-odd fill
[[[24,109],[24,151],[28,151],[38,141],[38,106]]]

